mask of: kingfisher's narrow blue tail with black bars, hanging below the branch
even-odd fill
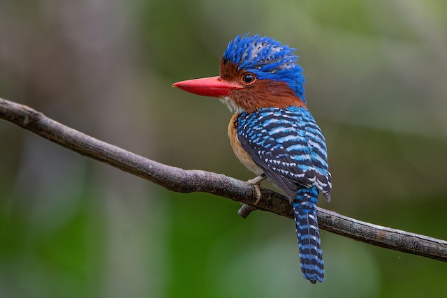
[[[316,219],[317,198],[316,186],[300,188],[292,203],[298,246],[300,247],[301,271],[302,275],[311,283],[324,280],[323,252],[321,251],[320,232]]]

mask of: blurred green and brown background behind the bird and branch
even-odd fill
[[[0,97],[162,163],[251,174],[230,112],[173,89],[237,34],[298,48],[332,202],[447,238],[447,2],[0,0]],[[291,220],[177,194],[0,121],[0,297],[442,297],[447,267],[322,232],[300,273]]]

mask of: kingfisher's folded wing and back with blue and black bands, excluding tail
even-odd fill
[[[308,110],[263,108],[241,113],[237,137],[256,165],[291,198],[300,187],[316,186],[330,200],[325,139]]]

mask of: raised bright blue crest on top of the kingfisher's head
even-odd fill
[[[305,100],[306,82],[292,47],[281,45],[268,36],[236,36],[223,52],[224,61],[232,61],[237,70],[247,70],[260,80],[286,82],[295,94]]]

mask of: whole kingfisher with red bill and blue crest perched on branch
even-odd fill
[[[258,175],[252,184],[260,189],[266,177],[288,196],[302,275],[315,284],[324,281],[316,204],[318,193],[330,201],[332,177],[325,137],[307,108],[306,80],[295,50],[268,36],[239,35],[223,52],[218,76],[173,87],[217,97],[234,113],[228,137],[235,156]]]

